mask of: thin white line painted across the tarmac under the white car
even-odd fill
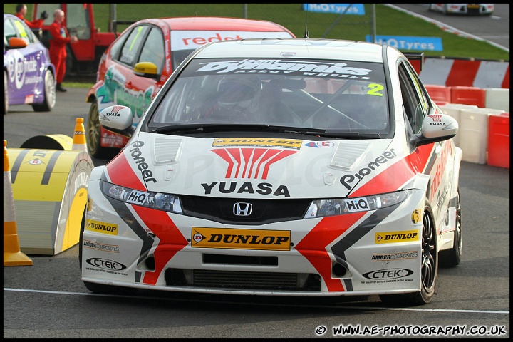
[[[84,293],[84,292],[67,292],[67,291],[46,291],[46,290],[33,290],[33,289],[11,289],[5,288],[4,291],[14,291],[14,292],[31,292],[31,293],[40,293],[40,294],[67,294],[73,296],[108,296],[108,297],[124,297],[124,298],[138,298],[138,299],[157,299],[157,300],[170,300],[170,301],[195,301],[193,299],[176,299],[176,298],[162,298],[162,297],[151,297],[151,296],[120,296],[115,294],[92,294],[92,293]],[[198,300],[199,301],[199,300]],[[201,300],[203,303],[204,299]],[[229,301],[209,301],[209,303],[221,303],[221,304],[229,304]],[[241,301],[237,301],[237,304],[242,304]],[[252,305],[266,305],[269,304],[259,304],[253,303]],[[301,304],[273,304],[273,306],[299,306],[299,307],[314,307],[314,308],[328,308],[328,309],[363,309],[363,310],[390,310],[390,311],[433,311],[433,312],[462,312],[462,313],[478,313],[478,314],[508,314],[509,311],[497,311],[497,310],[456,310],[456,309],[421,309],[421,308],[382,308],[378,306],[347,306],[347,305],[301,305]]]

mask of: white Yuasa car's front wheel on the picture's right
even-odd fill
[[[410,294],[380,295],[380,299],[384,304],[391,306],[423,305],[429,303],[432,296],[435,294],[435,285],[438,275],[437,234],[431,206],[427,199],[424,204],[422,229],[420,291]]]

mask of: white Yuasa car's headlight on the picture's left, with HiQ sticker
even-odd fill
[[[180,197],[162,192],[145,192],[130,189],[129,187],[121,187],[102,180],[100,187],[103,195],[118,201],[140,205],[165,212],[174,212],[175,214],[183,214]]]

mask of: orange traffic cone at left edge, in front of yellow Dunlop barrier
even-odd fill
[[[32,265],[32,259],[21,253],[19,247],[9,155],[7,155],[7,141],[4,140],[4,266]]]

